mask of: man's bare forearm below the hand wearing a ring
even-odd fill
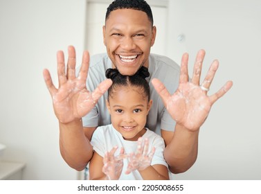
[[[173,138],[164,150],[164,157],[172,173],[183,173],[197,159],[199,130],[191,132],[176,125]]]

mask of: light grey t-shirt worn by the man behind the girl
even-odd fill
[[[91,56],[87,77],[87,89],[89,91],[96,89],[100,82],[106,79],[105,71],[109,68],[112,68],[112,64],[107,53]],[[161,134],[161,129],[173,132],[175,121],[168,114],[161,97],[154,89],[151,81],[153,78],[158,78],[163,82],[170,94],[173,94],[179,85],[180,67],[177,63],[170,60],[170,58],[150,54],[148,69],[150,77],[146,79],[150,84],[152,107],[147,115],[147,124],[145,127],[148,127],[157,134]],[[84,127],[97,127],[111,123],[109,111],[106,107],[107,96],[107,92],[105,92],[91,112],[82,118]]]

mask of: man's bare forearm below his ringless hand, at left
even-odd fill
[[[93,155],[90,141],[84,135],[82,121],[60,124],[60,152],[71,168],[83,170]]]

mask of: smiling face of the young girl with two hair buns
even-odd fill
[[[140,92],[140,93],[139,93]],[[139,87],[119,87],[109,96],[107,108],[114,128],[129,141],[137,141],[145,133],[145,123],[152,100],[141,94]]]

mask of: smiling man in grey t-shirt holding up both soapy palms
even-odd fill
[[[72,168],[83,170],[93,155],[90,144],[93,131],[99,125],[109,124],[105,91],[111,80],[105,79],[106,69],[117,68],[123,75],[133,75],[143,65],[149,69],[148,82],[153,85],[150,91],[153,106],[147,116],[147,127],[163,137],[166,145],[164,157],[172,173],[185,172],[197,159],[199,127],[208,116],[210,107],[226,94],[232,82],[227,82],[213,96],[207,96],[218,62],[213,62],[199,85],[205,51],[197,54],[190,81],[187,53],[181,60],[181,69],[168,58],[150,54],[156,27],[153,26],[150,6],[143,0],[111,3],[103,37],[107,54],[93,56],[89,61],[89,53],[84,51],[78,77],[75,77],[73,46],[68,48],[66,71],[64,54],[57,52],[59,89],[54,87],[48,70],[44,70],[44,79],[60,123],[62,157]]]

